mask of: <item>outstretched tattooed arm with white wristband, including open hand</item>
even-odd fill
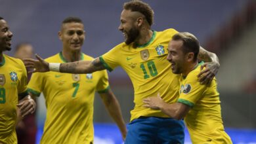
[[[32,67],[33,72],[57,71],[60,73],[93,73],[106,69],[99,58],[93,61],[78,61],[70,63],[48,63],[35,55],[37,60],[24,59],[26,67]]]

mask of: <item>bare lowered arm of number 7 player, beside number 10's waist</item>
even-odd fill
[[[108,89],[107,92],[100,94],[100,98],[102,98],[102,101],[104,102],[104,105],[108,110],[108,113],[110,113],[111,117],[116,122],[119,130],[121,131],[123,139],[125,139],[127,130],[125,126],[125,121],[123,120],[121,114],[120,105],[116,99],[116,96],[114,95],[111,89]]]

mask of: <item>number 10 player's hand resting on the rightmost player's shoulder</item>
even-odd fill
[[[198,74],[200,84],[210,84],[219,70],[219,63],[207,62],[201,65],[201,72]],[[205,69],[203,69],[205,67]]]

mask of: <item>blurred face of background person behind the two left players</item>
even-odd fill
[[[32,58],[33,57],[33,47],[32,45],[22,45],[16,52],[15,58]]]

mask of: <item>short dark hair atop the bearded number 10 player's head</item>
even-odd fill
[[[150,7],[150,5],[148,5],[148,3],[144,3],[139,0],[133,0],[133,1],[124,3],[123,9],[131,10],[133,12],[140,12],[145,16],[146,21],[150,26],[152,26],[152,24],[154,23],[154,11]]]

